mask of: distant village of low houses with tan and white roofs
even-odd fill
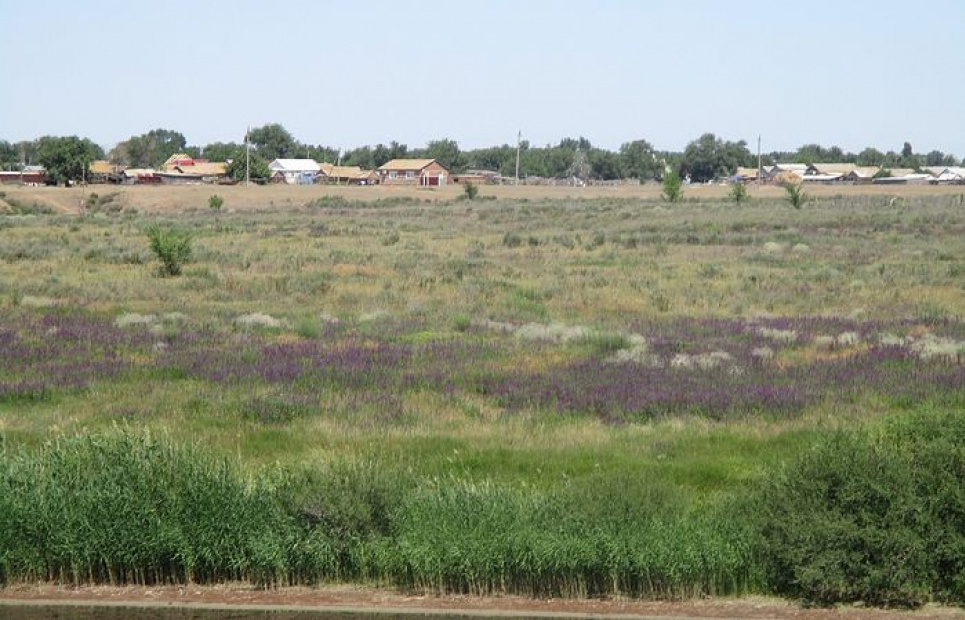
[[[212,162],[184,153],[172,155],[159,168],[129,168],[106,160],[90,164],[84,179],[88,184],[114,185],[231,185],[237,180],[228,176],[230,162]],[[493,170],[467,170],[453,174],[435,159],[393,159],[375,170],[359,166],[318,163],[313,159],[275,159],[268,164],[270,183],[287,185],[409,185],[441,187],[449,183],[495,185],[519,182]],[[687,179],[689,182],[689,179]],[[525,184],[593,184],[594,181],[571,177],[545,179],[528,177]],[[925,166],[920,169],[858,166],[845,163],[781,163],[761,168],[738,168],[731,176],[715,179],[717,183],[761,183],[771,185],[962,185],[965,166]],[[613,184],[614,181],[607,181]],[[639,183],[636,180],[621,184]],[[19,171],[0,172],[0,184],[50,184],[43,166],[23,166]]]

